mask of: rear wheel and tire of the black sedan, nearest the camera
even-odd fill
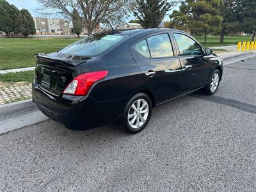
[[[138,93],[125,106],[122,122],[126,132],[135,134],[148,124],[152,113],[152,101],[145,93]]]

